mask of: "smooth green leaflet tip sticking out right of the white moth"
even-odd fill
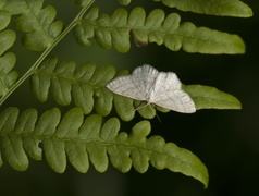
[[[237,98],[214,87],[201,85],[184,85],[182,87],[192,97],[197,110],[242,109],[242,105]]]

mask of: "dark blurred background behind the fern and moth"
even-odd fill
[[[71,166],[63,174],[54,173],[45,162],[30,160],[25,172],[17,172],[5,163],[0,169],[1,195],[62,195],[62,196],[244,196],[259,195],[259,1],[244,0],[254,10],[250,19],[206,16],[166,9],[160,3],[133,2],[128,9],[143,5],[147,11],[162,8],[168,13],[181,14],[182,22],[190,21],[197,26],[239,35],[246,42],[246,54],[209,56],[173,52],[165,47],[149,44],[137,48],[132,45],[128,53],[114,49],[103,50],[92,40],[92,46],[78,46],[70,34],[51,54],[62,60],[75,60],[78,64],[94,61],[98,65],[114,65],[116,69],[133,70],[149,63],[160,71],[173,71],[181,81],[188,84],[214,86],[237,97],[242,110],[199,110],[195,114],[176,112],[158,113],[161,122],[151,120],[152,134],[159,134],[166,142],[189,149],[207,166],[210,174],[208,189],[200,182],[180,173],[149,168],[145,174],[132,169],[122,174],[112,167],[104,173],[92,167],[86,174],[78,173]],[[45,5],[57,8],[57,20],[67,26],[78,12],[72,1],[46,0]],[[147,4],[147,5],[146,5]],[[100,12],[112,13],[116,1],[97,2]],[[148,8],[147,8],[148,7]],[[12,26],[11,26],[12,28]],[[17,35],[21,38],[21,35]],[[20,41],[15,70],[22,75],[39,57],[39,52],[26,51]],[[23,109],[36,107],[45,111],[52,101],[38,103],[28,91],[28,82],[18,88],[3,107],[16,106]],[[136,122],[140,118],[136,118]],[[126,123],[125,123],[126,124]],[[125,126],[126,127],[126,126]]]

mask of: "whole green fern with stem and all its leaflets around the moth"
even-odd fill
[[[155,0],[169,8],[201,14],[248,17],[252,12],[239,0]],[[131,0],[119,0],[127,5]],[[95,0],[74,0],[81,11],[70,24],[55,20],[57,11],[44,5],[44,0],[7,0],[0,2],[0,103],[2,105],[24,82],[30,79],[30,89],[40,102],[50,95],[57,108],[38,117],[37,109],[20,112],[16,107],[2,108],[0,114],[0,163],[7,161],[22,171],[28,167],[28,156],[41,160],[45,156],[49,166],[59,173],[66,168],[66,158],[79,172],[87,172],[89,162],[103,172],[110,162],[121,172],[132,167],[140,173],[149,163],[157,169],[181,172],[200,181],[207,187],[208,171],[205,164],[189,150],[173,143],[165,143],[161,136],[148,137],[151,126],[144,120],[127,134],[121,131],[121,121],[131,121],[135,112],[145,119],[152,119],[156,110],[166,109],[149,105],[136,110],[139,101],[114,95],[106,84],[115,75],[113,66],[96,66],[95,63],[76,65],[74,61],[58,62],[49,56],[52,49],[72,30],[75,39],[90,47],[90,39],[119,52],[131,50],[133,37],[138,47],[156,42],[168,49],[200,53],[244,53],[245,44],[234,34],[197,27],[190,22],[181,23],[177,13],[165,15],[161,9],[147,13],[136,7],[131,11],[119,8],[113,14],[99,14]],[[202,4],[202,5],[201,5]],[[220,8],[220,9],[219,9]],[[10,26],[13,25],[13,29]],[[22,33],[25,49],[41,51],[39,58],[18,77],[13,45],[17,30]],[[76,58],[76,57],[75,57]],[[240,109],[240,102],[233,96],[214,87],[183,85],[196,109]],[[64,106],[71,109],[61,114]],[[114,110],[119,118],[111,117]]]

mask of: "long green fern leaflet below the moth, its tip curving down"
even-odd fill
[[[97,171],[103,172],[110,159],[122,172],[134,167],[144,173],[150,163],[157,169],[181,172],[208,185],[208,171],[194,154],[165,143],[160,136],[147,138],[150,133],[148,121],[137,123],[130,135],[119,133],[119,130],[116,118],[103,123],[100,115],[92,114],[84,120],[79,108],[71,109],[63,118],[54,108],[46,111],[39,120],[35,109],[18,114],[16,108],[8,108],[0,114],[0,152],[16,170],[28,167],[26,152],[37,160],[44,152],[49,166],[59,173],[66,168],[66,157],[79,172],[88,171],[89,161]]]

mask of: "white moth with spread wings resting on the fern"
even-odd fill
[[[111,91],[136,100],[155,103],[162,108],[182,113],[196,111],[192,98],[181,88],[182,83],[173,72],[158,72],[144,64],[136,68],[132,75],[119,76],[108,83]]]

